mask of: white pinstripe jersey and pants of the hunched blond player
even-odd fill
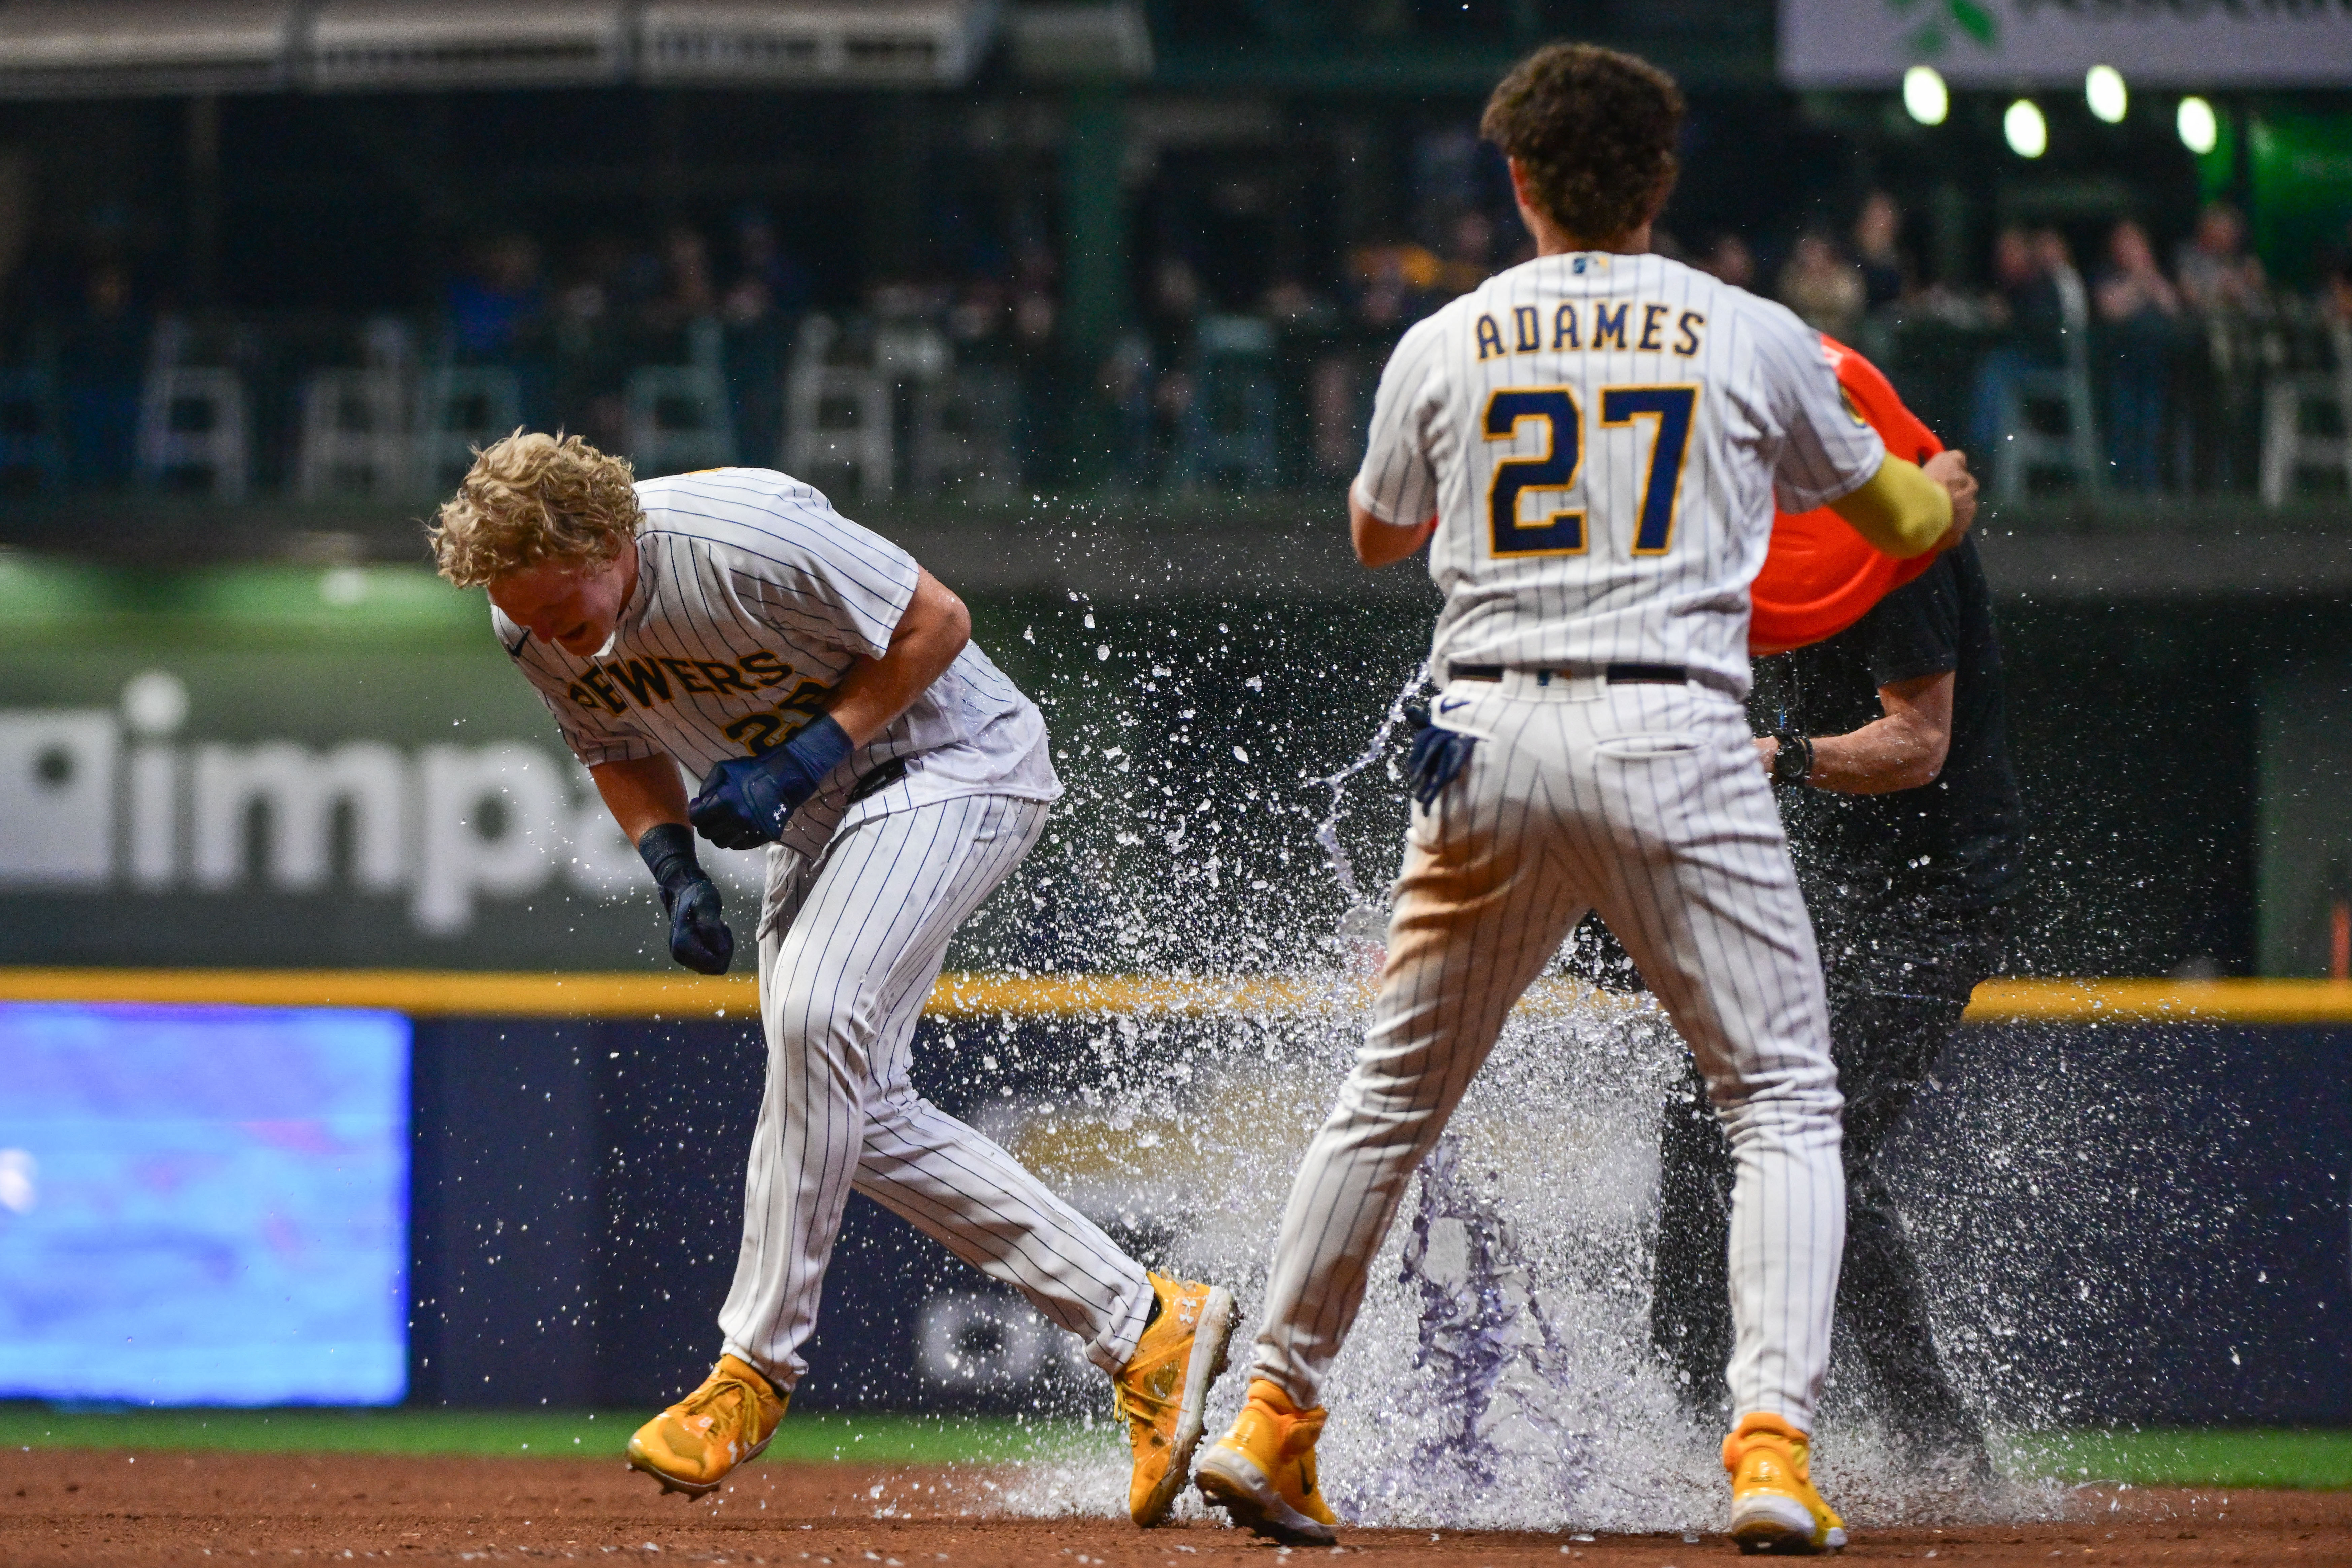
[[[583,764],[668,755],[701,776],[783,743],[851,661],[889,651],[915,559],[800,480],[720,468],[644,480],[637,501],[637,585],[595,656],[496,616]],[[903,778],[861,790],[898,762]],[[948,940],[1058,795],[1035,703],[967,644],[769,851],[769,1070],[720,1328],[783,1389],[807,1371],[800,1347],[851,1187],[1023,1291],[1105,1371],[1134,1354],[1152,1307],[1143,1265],[908,1079]]]

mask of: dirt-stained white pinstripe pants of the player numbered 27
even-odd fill
[[[1291,1185],[1256,1375],[1319,1399],[1414,1168],[1503,1018],[1599,907],[1731,1135],[1731,1396],[1799,1429],[1830,1361],[1846,1197],[1813,926],[1743,708],[1700,686],[1456,682],[1482,736],[1414,809],[1371,1032]]]

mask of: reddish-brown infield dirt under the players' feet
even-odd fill
[[[176,1450],[0,1453],[0,1563],[148,1568],[275,1559],[637,1563],[1103,1563],[1211,1568],[1275,1552],[1211,1521],[1011,1519],[993,1476],[955,1467],[753,1465],[717,1497],[663,1497],[621,1460],[459,1460]],[[2347,1563],[2352,1493],[2082,1488],[2063,1523],[1870,1530],[1851,1559],[1971,1563]],[[1381,1563],[1733,1561],[1722,1535],[1350,1530]]]

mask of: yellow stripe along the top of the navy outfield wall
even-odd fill
[[[1002,976],[948,973],[934,1018],[1098,1018],[1122,1013],[1355,1011],[1369,980],[1258,976]],[[1602,999],[1541,983],[1526,1006]],[[463,969],[0,969],[0,1001],[172,1001],[355,1006],[419,1018],[750,1018],[750,978],[687,973],[496,973]],[[2340,980],[1985,980],[1969,1023],[2352,1023]]]

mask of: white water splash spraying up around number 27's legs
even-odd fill
[[[1073,602],[1068,614],[1075,621],[1080,607]],[[1110,609],[1103,618],[1096,632],[1087,611],[1082,658],[1058,705],[1049,703],[1049,724],[1068,743],[1073,799],[1056,813],[1056,837],[997,903],[1002,924],[964,945],[960,964],[1275,971],[1329,985],[1312,1006],[1287,1013],[1080,1025],[1047,1051],[1068,1053],[1068,1081],[1054,1103],[1037,1110],[1007,1100],[1004,1119],[988,1131],[1089,1215],[1122,1237],[1148,1237],[1141,1255],[1155,1267],[1230,1286],[1247,1335],[1263,1314],[1265,1269],[1298,1159],[1369,1023],[1362,992],[1348,985],[1376,961],[1385,936],[1376,893],[1364,886],[1378,884],[1364,867],[1369,844],[1381,842],[1367,837],[1367,825],[1390,809],[1402,818],[1402,809],[1352,785],[1392,755],[1428,665],[1392,689],[1392,675],[1367,675],[1362,663],[1319,668],[1291,649],[1284,672],[1265,646],[1242,649],[1235,632],[1223,693],[1202,693],[1185,679],[1207,675],[1188,677],[1183,661],[1160,654],[1178,630],[1192,635],[1197,621],[1148,621],[1112,646],[1122,632]],[[1098,658],[1098,635],[1110,639],[1110,661]],[[1402,665],[1404,656],[1388,670]],[[1362,750],[1336,733],[1350,712],[1367,722],[1381,715]],[[1317,752],[1350,750],[1352,762],[1338,771],[1312,766]],[[1225,757],[1240,769],[1228,769]],[[1216,766],[1202,766],[1209,762]],[[1272,783],[1277,764],[1327,792],[1319,818]],[[1390,849],[1395,842],[1385,835]],[[1343,905],[1338,940],[1324,903],[1334,889]],[[1056,945],[1040,947],[1042,926],[1061,933]],[[990,1048],[1018,1056],[1009,1027],[997,1039]],[[1348,1519],[1581,1530],[1712,1528],[1719,1519],[1722,1434],[1682,1413],[1649,1347],[1656,1114],[1679,1077],[1679,1053],[1646,999],[1522,1009],[1510,1020],[1439,1157],[1418,1178],[1411,1220],[1374,1260],[1362,1316],[1331,1368],[1324,1483]],[[2072,1159],[2082,1140],[2058,1138],[2056,1107],[2046,1098],[2020,1117],[2039,1119],[2051,1150],[2063,1145]],[[1973,1213],[1987,1213],[1994,1185],[2042,1182],[2034,1201],[2044,1204],[2039,1194],[2056,1194],[2070,1171],[2053,1164],[2056,1154],[2006,1164],[2004,1152],[2027,1150],[2020,1117],[1992,1117],[1990,1103],[1978,1110],[1966,1135],[1938,1138],[1924,1152],[1933,1180],[1907,1178],[1905,1197],[1926,1182],[1922,1208],[1936,1213],[1922,1225],[1922,1251],[1945,1286],[1938,1331],[1955,1331],[1947,1345],[1985,1345],[1962,1368],[1962,1382],[1990,1415],[2018,1408],[2023,1373],[2009,1335],[2042,1307],[2023,1302],[2006,1279],[1983,1281],[1969,1267],[1985,1251],[1985,1237],[1964,1234],[1971,1213],[1959,1208],[1973,1206],[1940,1208],[1926,1194],[1973,1180],[1987,1187],[1987,1204]],[[2018,1107],[2004,1098],[2002,1110]],[[1244,1338],[1235,1371],[1211,1396],[1211,1429],[1237,1410],[1247,1375]],[[1950,1507],[1877,1443],[1867,1401],[1842,1396],[1835,1378],[1830,1394],[1818,1474],[1858,1526],[1938,1509],[1978,1519],[2056,1509],[2051,1493]],[[1040,1413],[1049,1406],[1040,1403]],[[1098,1415],[1101,1382],[1073,1382],[1068,1403],[1051,1410]],[[1098,1427],[1096,1439],[1098,1458],[1030,1465],[1007,1481],[1002,1505],[1115,1512],[1124,1455],[1108,1429]],[[1181,1507],[1197,1512],[1190,1495]]]

